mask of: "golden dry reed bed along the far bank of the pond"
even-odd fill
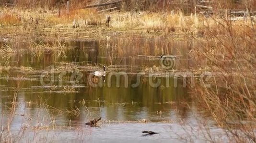
[[[105,18],[110,15],[110,26],[106,27]],[[75,30],[72,28],[76,25]],[[237,20],[235,27],[247,29],[250,20]],[[142,33],[202,35],[205,29],[216,34],[221,20],[217,17],[206,19],[200,14],[185,16],[181,10],[175,12],[97,12],[94,9],[70,10],[21,10],[16,8],[0,9],[1,35],[63,36],[102,31],[140,31]],[[246,25],[245,27],[243,25]],[[59,35],[58,35],[59,34]],[[78,35],[76,35],[78,36]],[[83,37],[79,35],[78,37]]]

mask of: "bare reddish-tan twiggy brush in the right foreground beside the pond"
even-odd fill
[[[214,29],[204,30],[205,42],[191,52],[198,65],[210,68],[213,77],[207,83],[191,87],[191,90],[216,123],[229,131],[230,141],[254,142],[256,32],[250,20],[214,22]],[[220,54],[221,58],[218,58]],[[207,62],[202,62],[203,59]]]

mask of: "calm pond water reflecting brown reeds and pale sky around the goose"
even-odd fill
[[[205,142],[208,132],[222,140],[183,80],[156,72],[163,70],[161,53],[180,57],[164,73],[196,66],[188,55],[195,44],[138,35],[1,41],[15,50],[0,59],[1,130],[10,123],[17,142]],[[91,76],[103,65],[106,82]],[[99,117],[97,127],[84,125]],[[159,134],[143,136],[144,130]]]

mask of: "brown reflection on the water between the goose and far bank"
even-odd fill
[[[38,42],[39,41],[35,41]],[[17,53],[12,55],[13,66],[23,65],[33,68],[45,68],[58,62],[90,62],[106,65],[147,66],[158,65],[159,62],[149,61],[137,55],[160,56],[161,54],[185,55],[177,60],[176,68],[186,68],[186,55],[189,52],[190,42],[175,41],[161,36],[129,36],[99,40],[75,40],[75,41],[45,41],[47,47],[33,47],[33,44],[20,42],[8,43]],[[58,44],[65,45],[62,49]],[[0,43],[2,45],[3,43]],[[57,47],[56,47],[57,45]],[[66,47],[66,48],[65,48]],[[20,50],[22,49],[22,51]],[[43,64],[42,64],[43,63]]]

